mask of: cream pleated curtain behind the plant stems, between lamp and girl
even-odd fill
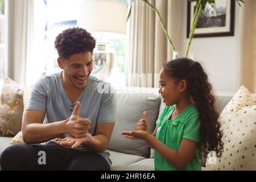
[[[163,19],[176,49],[180,49],[181,1],[149,1]],[[128,86],[158,87],[162,65],[172,59],[172,50],[155,11],[143,1],[134,1],[129,20],[125,73]]]

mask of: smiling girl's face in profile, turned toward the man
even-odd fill
[[[160,71],[160,89],[159,93],[163,98],[166,106],[177,104],[180,100],[180,84],[174,78],[168,77],[167,73],[161,69]]]

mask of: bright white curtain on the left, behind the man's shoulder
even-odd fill
[[[43,0],[9,0],[8,76],[31,86],[44,71]]]

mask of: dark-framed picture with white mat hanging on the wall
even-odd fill
[[[197,22],[194,38],[234,35],[234,0],[215,0],[215,3],[214,8],[209,3],[205,6]],[[188,0],[187,38],[195,10],[196,0]]]

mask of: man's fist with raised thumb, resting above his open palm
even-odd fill
[[[79,117],[80,102],[76,102],[76,107],[70,118],[65,121],[66,132],[75,138],[82,138],[86,136],[90,129],[90,119]]]

